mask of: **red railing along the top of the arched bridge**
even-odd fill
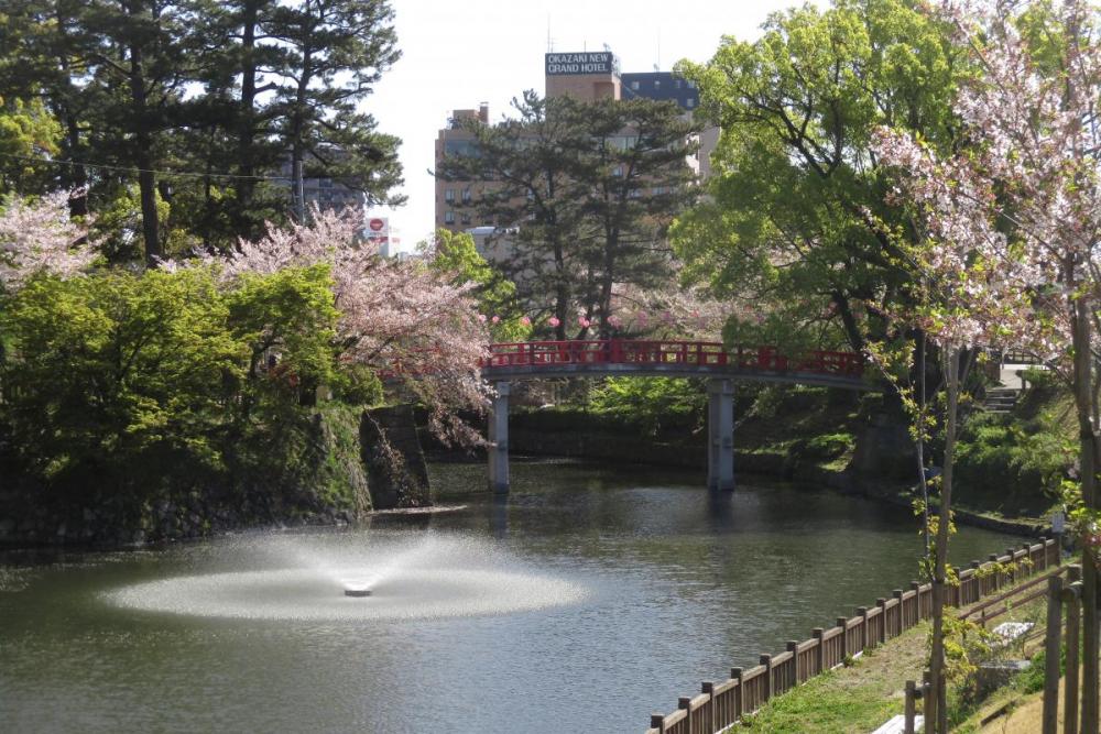
[[[814,372],[859,377],[863,360],[853,352],[810,351],[788,358],[775,347],[733,347],[713,341],[606,339],[490,344],[486,368],[636,364],[732,366],[762,372]]]

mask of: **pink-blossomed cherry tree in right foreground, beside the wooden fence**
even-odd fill
[[[1086,548],[1081,731],[1097,734],[1098,571],[1089,540],[1101,467],[1098,11],[1084,0],[945,2],[940,10],[979,69],[956,100],[963,144],[939,156],[919,141],[884,134],[879,154],[905,172],[900,194],[924,213],[933,282],[951,295],[927,326],[946,351],[1010,340],[1073,388]],[[950,492],[947,463],[945,482]],[[935,648],[934,666],[939,657]]]

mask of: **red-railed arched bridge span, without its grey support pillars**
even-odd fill
[[[525,341],[490,344],[482,375],[490,381],[609,374],[761,380],[866,390],[864,362],[853,352],[811,351],[788,358],[775,347],[711,341]]]

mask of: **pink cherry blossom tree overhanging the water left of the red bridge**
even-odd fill
[[[489,343],[469,285],[454,285],[449,274],[415,261],[381,258],[359,239],[360,215],[315,209],[307,223],[269,227],[257,240],[242,240],[218,262],[224,276],[273,273],[284,267],[327,264],[340,317],[339,359],[372,368],[396,381],[429,409],[429,425],[444,440],[482,442],[459,419],[480,413],[488,386],[479,360]]]

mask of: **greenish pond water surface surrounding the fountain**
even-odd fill
[[[502,500],[481,465],[433,467],[455,512],[0,566],[4,730],[642,731],[700,680],[904,587],[920,550],[905,510],[830,492],[512,469]],[[960,528],[956,560],[1014,541]],[[349,569],[407,558],[394,544],[433,548],[394,572],[404,602],[339,596]],[[364,602],[390,612],[331,613]]]

